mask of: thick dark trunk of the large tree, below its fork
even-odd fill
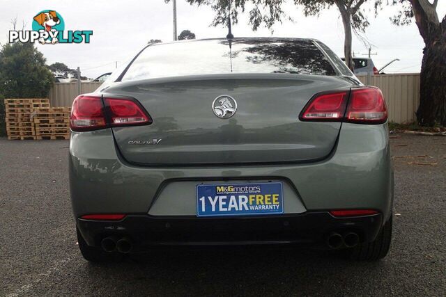
[[[446,126],[446,40],[426,45],[420,73],[420,125]]]

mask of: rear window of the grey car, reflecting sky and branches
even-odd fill
[[[312,40],[237,38],[151,45],[122,80],[228,73],[336,75]]]

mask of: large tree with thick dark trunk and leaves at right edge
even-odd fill
[[[438,0],[392,0],[393,5],[401,5],[392,22],[410,24],[415,17],[424,40],[417,121],[425,126],[446,126],[446,15],[440,22],[437,3]]]

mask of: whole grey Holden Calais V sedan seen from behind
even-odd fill
[[[70,194],[93,262],[164,246],[290,244],[385,257],[385,100],[318,40],[148,45],[70,119]]]

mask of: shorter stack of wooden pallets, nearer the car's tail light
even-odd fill
[[[34,109],[36,139],[70,139],[70,107]]]

